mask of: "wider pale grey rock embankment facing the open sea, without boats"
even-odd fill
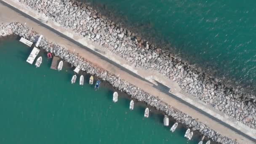
[[[235,120],[256,128],[256,96],[227,88],[221,80],[174,57],[164,48],[118,27],[91,6],[74,0],[19,0],[72,32],[129,61],[134,67],[154,70],[175,81],[185,92]]]

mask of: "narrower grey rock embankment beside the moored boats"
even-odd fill
[[[20,37],[25,37],[32,42],[36,42],[38,37],[40,36],[36,32],[19,23],[11,23],[6,26],[0,24],[0,37],[12,34],[19,35]],[[237,144],[237,142],[225,136],[219,135],[217,132],[211,130],[203,123],[200,123],[192,117],[184,114],[183,112],[180,112],[178,109],[169,106],[160,99],[157,99],[155,96],[152,96],[149,93],[142,91],[136,86],[131,85],[120,77],[117,77],[114,74],[100,67],[96,67],[91,62],[84,60],[77,54],[68,51],[66,48],[63,48],[56,43],[53,43],[43,38],[40,42],[39,47],[45,51],[51,52],[54,55],[61,57],[62,59],[66,60],[74,66],[79,65],[89,74],[96,75],[97,77],[108,81],[111,85],[113,85],[120,91],[125,91],[128,95],[131,96],[131,98],[137,99],[138,101],[146,102],[150,106],[155,107],[162,112],[165,112],[170,117],[173,117],[178,123],[183,123],[187,127],[192,128],[193,131],[199,131],[201,134],[207,136],[213,141],[217,141],[222,144]]]

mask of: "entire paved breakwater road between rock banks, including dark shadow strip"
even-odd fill
[[[99,67],[107,69],[116,75],[119,75],[129,83],[136,85],[148,93],[158,96],[160,99],[170,104],[182,112],[198,118],[198,120],[205,125],[208,125],[213,130],[220,134],[227,136],[231,139],[237,139],[241,144],[252,144],[255,143],[256,138],[253,135],[253,130],[246,128],[241,123],[229,119],[227,116],[220,112],[216,112],[215,109],[198,102],[196,99],[186,97],[185,93],[182,93],[175,83],[166,82],[163,77],[158,74],[150,73],[139,68],[131,67],[127,62],[115,56],[109,51],[103,48],[96,48],[94,45],[87,43],[83,37],[78,35],[72,35],[71,32],[58,27],[57,24],[47,23],[47,18],[38,16],[27,8],[23,8],[17,3],[13,3],[11,0],[5,0],[7,3],[0,0],[0,22],[10,23],[18,21],[21,24],[27,25],[44,35],[44,37],[68,48],[70,51],[79,53],[80,56],[92,61]],[[85,47],[84,45],[88,46]],[[156,75],[153,79],[168,85],[169,88],[160,84],[150,82],[150,76]],[[171,86],[170,86],[171,85]],[[202,110],[203,109],[203,110]],[[244,128],[243,128],[244,126]]]

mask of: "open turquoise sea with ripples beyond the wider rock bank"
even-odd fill
[[[245,86],[256,83],[254,0],[82,0],[158,41],[183,59]]]

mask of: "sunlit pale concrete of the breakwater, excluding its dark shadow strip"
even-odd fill
[[[58,43],[59,45],[68,48],[70,51],[75,51],[75,53],[79,53],[80,56],[93,62],[97,66],[102,67],[108,70],[109,72],[114,73],[115,75],[119,75],[119,77],[121,77],[122,79],[141,88],[144,91],[147,91],[153,96],[158,96],[160,99],[170,104],[172,107],[179,109],[180,111],[190,115],[195,119],[197,118],[200,122],[204,123],[214,131],[217,131],[221,135],[227,136],[231,139],[237,139],[237,142],[241,144],[255,143],[256,130],[249,128],[236,120],[233,120],[227,115],[224,115],[223,113],[217,111],[216,109],[213,109],[212,107],[204,104],[203,102],[198,101],[194,97],[189,96],[187,93],[184,93],[183,91],[181,91],[181,89],[175,82],[172,82],[171,80],[167,80],[165,77],[163,77],[162,75],[160,75],[159,73],[153,70],[146,71],[143,69],[132,67],[131,64],[124,61],[119,56],[111,53],[106,48],[95,46],[94,44],[87,41],[84,37],[73,34],[72,31],[68,31],[60,27],[59,24],[57,23],[49,22],[47,17],[40,16],[40,14],[38,13],[37,14],[34,13],[32,10],[29,10],[28,8],[24,7],[20,3],[17,3],[16,1],[13,1],[13,0],[3,0],[3,1],[19,9],[20,11],[27,13],[29,16],[32,16],[33,18],[41,21],[43,24],[46,24],[47,26],[53,29],[56,29],[58,32],[61,32],[62,34],[72,38],[73,40],[85,45],[86,47],[91,48],[93,51],[100,53],[101,56],[104,56],[110,59],[111,61],[114,61],[115,63],[119,64],[120,67],[125,67],[126,69],[129,69],[130,71],[136,73],[136,75],[139,75],[140,77],[143,77],[151,81],[152,83],[149,83],[146,80],[143,80],[134,75],[131,75],[129,72],[126,72],[125,70],[120,69],[120,67],[117,67],[111,64],[109,61],[102,59],[101,56],[96,56],[95,54],[85,50],[79,45],[76,45],[75,43],[65,39],[64,37],[61,37],[60,35],[56,34],[50,29],[44,27],[39,22],[35,22],[33,19],[29,19],[27,18],[27,16],[23,16],[21,13],[19,13],[19,11],[18,12],[13,11],[12,8],[8,8],[7,6],[2,4],[0,5],[0,22],[1,23],[10,23],[10,22],[18,21],[21,24],[25,24],[27,27],[33,28],[33,30],[42,34],[45,38],[52,40]],[[1,3],[1,0],[0,0],[0,3]],[[208,115],[205,115],[203,112],[195,110],[194,108],[189,107],[188,105],[182,103],[181,101],[174,99],[173,97],[171,97],[172,95],[171,93],[165,93],[163,91],[160,91],[156,87],[157,83],[155,82],[155,80],[171,88],[171,93],[173,95],[178,96],[184,101],[187,101],[189,104],[192,104],[193,106],[197,107],[203,112],[206,112],[207,114],[217,118],[221,122],[213,120]],[[237,132],[237,131],[233,131],[232,129],[229,128],[230,126],[227,126],[227,124],[244,134],[241,134],[240,132]],[[254,140],[248,139],[244,135],[248,135]]]

